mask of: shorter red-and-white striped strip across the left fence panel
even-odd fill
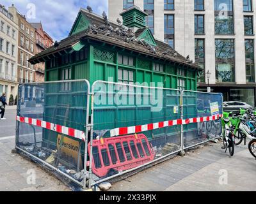
[[[22,123],[38,126],[40,128],[50,129],[51,131],[65,134],[73,138],[85,141],[84,132],[77,129],[67,128],[65,126],[60,126],[58,124],[53,124],[51,122],[45,122],[44,120],[31,119],[29,117],[16,116],[16,120]]]

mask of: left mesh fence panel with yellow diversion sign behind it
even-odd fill
[[[17,149],[83,187],[89,93],[86,80],[20,84],[17,105]]]

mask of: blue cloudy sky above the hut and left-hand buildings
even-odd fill
[[[42,22],[43,29],[53,40],[68,36],[79,9],[92,7],[93,13],[108,13],[108,0],[1,0],[6,8],[15,5],[29,22]]]

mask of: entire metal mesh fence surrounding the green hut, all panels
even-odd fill
[[[222,94],[148,84],[21,84],[16,147],[92,187],[220,137],[222,103]]]

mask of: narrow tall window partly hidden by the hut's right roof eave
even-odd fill
[[[202,69],[205,69],[204,39],[195,39],[195,62]],[[199,80],[200,82],[205,82],[205,71],[202,71]]]

